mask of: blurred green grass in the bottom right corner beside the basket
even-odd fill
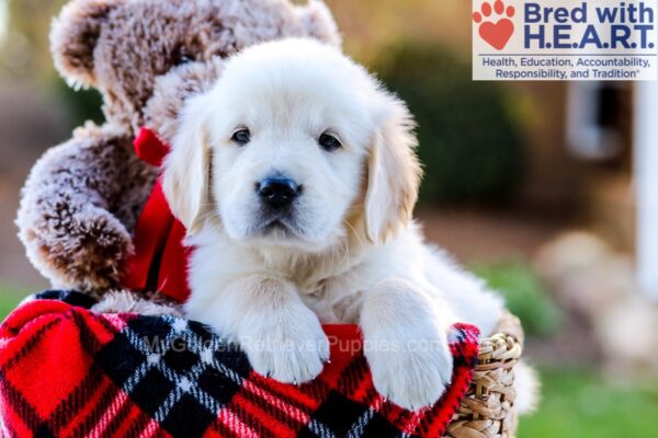
[[[519,437],[655,437],[658,382],[610,382],[592,370],[541,372],[542,403],[521,417]]]

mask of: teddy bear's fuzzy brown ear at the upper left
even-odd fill
[[[112,8],[123,0],[72,0],[50,30],[55,67],[73,87],[94,84],[93,51],[101,26]]]

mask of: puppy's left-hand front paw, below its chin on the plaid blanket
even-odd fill
[[[284,383],[315,379],[329,359],[329,341],[304,306],[253,324],[240,345],[258,373]]]

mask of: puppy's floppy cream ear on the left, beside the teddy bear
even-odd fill
[[[192,97],[183,110],[171,152],[164,161],[162,189],[169,207],[188,229],[196,233],[212,210],[212,152],[207,120],[207,97]]]

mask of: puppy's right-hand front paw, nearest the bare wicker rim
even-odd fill
[[[366,357],[375,389],[406,410],[416,411],[439,401],[451,381],[453,358],[445,333],[410,333],[371,337]]]

